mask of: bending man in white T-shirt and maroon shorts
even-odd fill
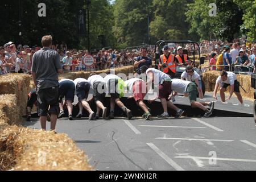
[[[170,100],[170,95],[172,93],[172,78],[164,72],[159,71],[158,69],[154,68],[147,68],[146,66],[141,67],[141,72],[146,73],[147,79],[147,86],[155,83],[158,85],[159,94],[155,98],[149,100],[148,102],[151,104],[156,99],[160,99],[161,104],[163,106],[163,114],[158,115],[157,117],[160,119],[165,119],[169,117],[167,108],[170,107],[171,109],[176,111],[175,118],[180,118],[181,115],[184,113],[182,109],[176,107]]]

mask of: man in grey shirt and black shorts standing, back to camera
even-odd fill
[[[59,54],[52,50],[52,36],[42,38],[43,48],[37,51],[32,59],[32,77],[38,93],[38,115],[41,127],[46,130],[47,112],[51,115],[51,131],[55,131],[59,115],[59,77],[63,73]],[[50,108],[49,108],[50,106]]]

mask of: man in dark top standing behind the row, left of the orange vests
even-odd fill
[[[134,63],[134,67],[137,68],[137,74],[141,75],[140,68],[145,65],[146,67],[151,67],[152,60],[150,57],[147,56],[147,48],[141,48],[141,56],[137,57],[137,60]]]

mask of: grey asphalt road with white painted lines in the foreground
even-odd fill
[[[100,171],[256,170],[253,118],[86,119],[59,119],[56,131]],[[40,129],[38,118],[25,126]]]

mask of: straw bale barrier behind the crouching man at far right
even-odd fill
[[[219,71],[208,71],[203,73],[203,80],[205,83],[205,91],[213,92],[216,84],[216,80],[220,76]],[[246,90],[245,93],[241,88],[240,92],[243,97],[254,98],[254,89],[251,88],[251,77],[249,75],[237,75],[237,80],[241,86]],[[227,90],[229,92],[229,88]]]

